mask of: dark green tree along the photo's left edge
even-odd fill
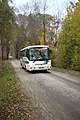
[[[4,59],[4,53],[6,58],[9,54],[9,45],[12,40],[14,23],[14,12],[8,5],[7,0],[0,1],[0,40],[1,40],[1,59]]]

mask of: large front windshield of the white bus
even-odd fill
[[[30,60],[49,60],[49,48],[47,47],[33,47],[29,49]]]

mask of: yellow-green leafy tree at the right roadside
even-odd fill
[[[80,2],[70,3],[58,40],[58,63],[64,68],[80,70]]]

